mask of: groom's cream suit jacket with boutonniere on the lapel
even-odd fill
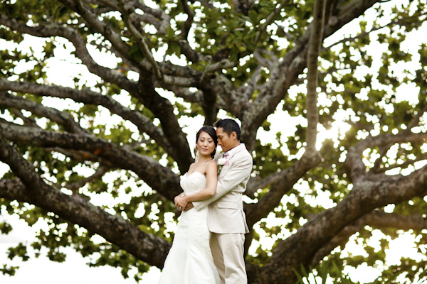
[[[252,156],[242,143],[233,148],[226,158],[228,163],[222,166],[218,175],[216,193],[207,200],[193,202],[200,210],[208,206],[208,228],[217,234],[248,233],[245,212],[243,212],[242,193],[252,172]],[[223,158],[223,153],[215,160]]]

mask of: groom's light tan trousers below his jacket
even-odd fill
[[[210,246],[221,284],[247,284],[243,244],[245,234],[212,233]]]

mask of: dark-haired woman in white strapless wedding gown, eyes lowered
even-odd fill
[[[203,126],[196,134],[196,156],[189,171],[181,176],[184,192],[175,204],[181,213],[174,243],[164,263],[159,284],[219,284],[219,275],[209,247],[208,207],[183,211],[188,202],[206,200],[216,192],[218,166],[214,161],[215,129]]]

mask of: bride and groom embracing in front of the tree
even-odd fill
[[[248,233],[242,193],[252,156],[240,143],[233,119],[220,119],[196,134],[196,162],[181,176],[182,211],[159,284],[246,284],[243,243]],[[215,155],[216,146],[223,153]]]

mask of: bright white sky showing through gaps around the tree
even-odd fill
[[[396,3],[400,3],[401,1],[395,0],[391,1],[391,3],[388,4],[388,6],[394,6]],[[358,23],[352,23],[351,25],[348,25],[342,29],[344,31],[346,36],[349,36],[349,31],[352,31],[354,34],[359,32],[359,25]],[[353,35],[354,35],[353,34]],[[427,34],[427,25],[423,25],[423,27],[417,31],[416,33],[413,33],[408,36],[408,38],[402,43],[401,48],[404,50],[409,50],[411,52],[414,52],[418,46],[419,40],[424,39],[425,35]],[[336,35],[339,37],[340,35]],[[371,35],[372,39],[375,39],[375,35]],[[335,38],[337,38],[335,37]],[[28,43],[27,47],[29,45],[32,46],[33,49],[37,48],[37,43],[41,42],[41,39],[38,38],[31,38],[31,43]],[[330,39],[334,40],[334,39]],[[425,40],[425,39],[424,39]],[[325,45],[329,45],[330,41],[326,41]],[[374,53],[374,50],[376,52],[379,52],[383,50],[385,47],[384,45],[379,45],[375,41],[371,43],[372,48],[370,50],[371,53]],[[21,45],[22,46],[22,45]],[[49,69],[48,69],[48,78],[50,82],[60,82],[60,84],[68,87],[73,87],[73,81],[72,76],[78,73],[84,74],[85,78],[87,78],[88,82],[95,82],[96,76],[88,74],[85,67],[82,65],[76,64],[76,62],[70,62],[65,60],[59,60],[58,58],[67,58],[67,54],[69,53],[70,48],[67,48],[66,50],[56,50],[56,56],[57,58],[51,58],[49,63]],[[95,57],[95,60],[98,62],[103,62],[104,65],[110,65],[109,67],[115,66],[115,61],[113,58],[111,60],[105,60],[105,55],[102,57],[96,55],[95,52],[92,53]],[[416,54],[416,53],[414,53]],[[414,55],[413,60],[417,60],[417,55]],[[411,64],[411,63],[408,63]],[[379,68],[379,62],[374,63],[374,70],[376,68]],[[396,70],[399,70],[401,66],[396,66]],[[366,72],[364,68],[362,67],[360,72]],[[370,71],[372,72],[372,71]],[[300,89],[297,89],[298,87],[295,87],[291,90],[291,92],[300,92]],[[414,89],[414,87],[411,84],[402,85],[399,87],[398,94],[396,98],[399,99],[406,99],[409,100],[409,102],[414,103],[414,97],[408,97],[408,94],[417,94],[418,91]],[[292,95],[292,94],[290,94]],[[168,95],[165,94],[165,97]],[[320,95],[320,101],[322,99],[322,96]],[[119,100],[118,97],[115,97]],[[171,97],[172,99],[172,97]],[[45,102],[49,102],[51,100],[51,103],[55,103],[55,99],[46,99]],[[411,101],[412,100],[412,101]],[[124,105],[129,104],[127,101],[127,97],[123,96],[120,97],[120,102]],[[320,102],[322,103],[322,102]],[[102,114],[101,114],[102,115]],[[105,114],[108,115],[108,114]],[[225,112],[221,112],[219,115],[220,117],[225,116]],[[288,129],[283,129],[282,124],[275,124],[274,121],[283,121],[286,120],[289,122]],[[268,121],[272,122],[270,131],[258,131],[257,138],[260,138],[260,140],[263,143],[268,143],[270,141],[274,141],[273,138],[275,138],[275,133],[278,131],[285,132],[285,131],[292,131],[293,127],[292,124],[296,125],[300,123],[300,119],[292,118],[287,113],[281,110],[281,107],[278,107],[278,110],[275,111],[275,114],[271,114],[268,117]],[[202,126],[203,119],[201,117],[196,119],[182,119],[180,121],[181,125],[186,125],[184,127],[184,131],[189,135],[189,144],[190,147],[194,147],[194,134],[196,131]],[[130,127],[132,124],[129,124]],[[338,133],[343,133],[343,131],[347,130],[347,124],[344,124],[342,121],[337,120],[332,125],[332,129],[326,131],[325,129],[319,129],[320,134],[318,137],[318,144],[320,146],[320,143],[325,140],[325,138],[330,137],[336,137]],[[137,131],[135,131],[137,132]],[[283,136],[285,137],[285,136]],[[285,141],[282,141],[285,143]],[[273,147],[275,145],[273,144]],[[4,165],[1,168],[5,168]],[[320,200],[313,200],[313,202],[328,202],[329,198],[328,196],[320,196],[318,197]],[[330,207],[333,206],[333,204],[329,205]],[[14,230],[9,235],[3,235],[0,234],[0,266],[2,263],[8,263],[8,265],[11,266],[20,266],[21,268],[18,269],[16,272],[16,275],[13,277],[0,275],[0,283],[6,283],[6,284],[22,284],[22,283],[35,283],[35,284],[53,284],[53,283],[60,283],[63,284],[75,284],[75,283],[123,283],[123,284],[130,284],[135,283],[135,280],[132,278],[124,280],[122,278],[122,275],[120,274],[120,268],[112,268],[110,266],[105,266],[102,268],[89,268],[85,265],[88,261],[84,258],[82,258],[78,253],[75,253],[75,251],[68,249],[67,251],[67,260],[64,263],[56,263],[49,261],[46,256],[41,256],[40,258],[30,258],[26,263],[23,263],[19,260],[9,261],[6,259],[6,250],[10,246],[16,246],[19,244],[19,242],[25,243],[31,243],[33,239],[35,238],[35,231],[34,229],[29,228],[26,226],[26,224],[19,220],[16,216],[9,216],[6,214],[6,212],[1,212],[1,217],[6,218],[6,221],[11,223],[14,226]],[[258,230],[259,231],[259,230]],[[260,234],[263,234],[263,231],[260,231]],[[371,244],[375,246],[376,242],[378,242],[379,239],[383,238],[384,235],[381,235],[379,231],[374,231],[374,236],[371,238]],[[273,245],[273,241],[271,239],[266,239],[266,241],[263,242],[263,247],[265,249],[270,249]],[[360,245],[357,244],[355,241],[355,237],[352,238],[349,241],[349,244],[346,247],[346,250],[344,253],[348,253],[349,251],[352,251],[353,254],[355,251],[361,251]],[[424,255],[426,251],[423,251]],[[387,263],[389,265],[397,263],[401,256],[416,256],[416,257],[425,257],[420,253],[417,253],[416,248],[413,246],[413,236],[411,234],[401,234],[399,238],[397,238],[394,241],[391,241],[390,249],[387,253]],[[367,268],[364,266],[359,266],[359,268],[349,268],[348,272],[352,276],[353,280],[359,280],[361,283],[369,283],[372,280],[374,280],[378,275],[378,271],[374,270],[374,268]],[[40,275],[40,276],[37,276]],[[132,273],[130,274],[132,276]],[[157,268],[152,268],[152,271],[149,273],[146,273],[143,277],[142,284],[148,284],[148,283],[157,283],[157,280],[159,278],[159,270]]]

